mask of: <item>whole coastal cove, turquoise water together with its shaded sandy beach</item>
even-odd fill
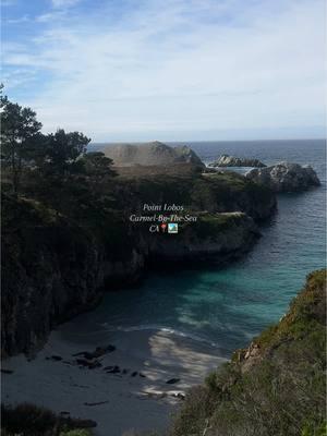
[[[261,225],[262,238],[241,259],[219,268],[186,264],[173,272],[165,270],[164,261],[162,271],[149,272],[140,287],[106,293],[95,310],[59,326],[35,360],[7,360],[5,368],[13,373],[3,377],[5,402],[29,401],[93,419],[97,436],[107,436],[108,428],[111,436],[165,428],[182,401],[177,395],[203,382],[235,349],[277,322],[306,274],[324,267],[324,141],[187,145],[205,162],[228,153],[268,165],[308,164],[322,185],[279,194],[278,211]],[[118,365],[126,374],[49,359],[70,362],[74,353],[109,343],[116,350],[102,365]],[[177,382],[167,384],[171,379]]]

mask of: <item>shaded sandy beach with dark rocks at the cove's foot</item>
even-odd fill
[[[170,331],[86,332],[78,318],[53,331],[35,359],[3,363],[13,371],[2,374],[5,403],[28,401],[94,420],[97,436],[165,429],[184,392],[225,361],[217,348]],[[78,365],[73,356],[108,344],[116,349],[96,359],[98,367]]]

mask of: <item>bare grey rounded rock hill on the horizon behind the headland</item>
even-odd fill
[[[204,167],[199,157],[190,147],[170,147],[158,141],[140,145],[107,146],[104,153],[116,166],[167,166],[186,162]]]

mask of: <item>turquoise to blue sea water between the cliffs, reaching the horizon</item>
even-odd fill
[[[209,342],[229,356],[277,322],[304,283],[325,266],[325,142],[187,143],[209,161],[220,153],[266,164],[310,164],[322,186],[278,196],[278,213],[242,261],[223,269],[149,274],[138,289],[108,293],[88,316],[108,330],[165,328]]]

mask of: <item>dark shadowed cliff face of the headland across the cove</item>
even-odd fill
[[[133,186],[129,182],[117,182],[121,183],[121,189],[114,192],[121,198],[117,209],[89,222],[76,221],[34,199],[4,195],[3,356],[37,349],[57,324],[92,308],[105,290],[138,281],[159,258],[168,264],[221,264],[242,255],[258,238],[257,226],[244,211],[221,210],[232,210],[231,206],[242,210],[241,197],[243,208],[247,206],[254,215],[262,216],[261,208],[267,216],[274,211],[274,195],[267,191],[266,203],[264,198],[262,203],[256,202],[254,184],[249,181],[245,189],[234,187],[233,194],[230,182],[223,191],[202,179],[196,182],[201,185],[193,185],[191,190],[189,180],[180,180],[177,185],[173,179],[164,178],[164,181],[165,185],[158,179],[134,181]],[[202,190],[202,183],[209,190]],[[246,192],[247,185],[254,191]],[[145,199],[155,204],[171,203],[184,193],[187,197],[180,203],[192,207],[198,220],[182,227],[177,235],[152,234],[148,225],[133,225],[128,219],[129,208],[140,208]],[[208,208],[211,206],[208,193],[217,195],[211,214],[203,211],[205,202]]]

